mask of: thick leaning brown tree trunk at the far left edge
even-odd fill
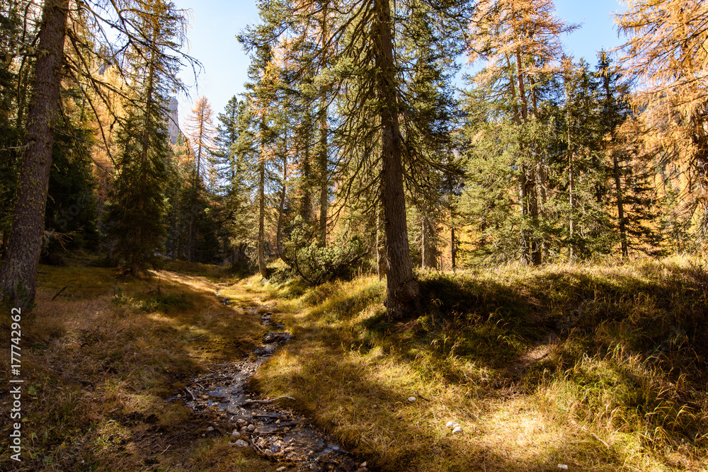
[[[5,263],[0,267],[0,287],[4,292],[8,292],[20,307],[30,306],[35,299],[47,188],[52,166],[54,127],[61,100],[61,73],[68,16],[67,1],[46,0],[42,7],[35,84],[25,138],[28,147],[18,186],[7,255]],[[18,287],[22,287],[26,292],[18,293]]]

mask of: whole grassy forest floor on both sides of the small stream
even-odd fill
[[[294,398],[287,418],[312,420],[357,467],[708,470],[704,260],[421,272],[421,313],[399,322],[375,277],[312,288],[167,269],[122,279],[88,258],[40,267],[21,321],[14,470],[301,468],[235,446],[231,419],[193,404],[205,394],[195,379],[258,357],[268,313],[292,338],[251,376],[251,395]],[[7,379],[8,316],[0,324]],[[4,388],[4,418],[10,404]]]

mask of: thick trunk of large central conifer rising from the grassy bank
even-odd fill
[[[406,226],[406,199],[401,163],[401,131],[396,100],[392,21],[389,0],[375,0],[374,34],[377,95],[381,118],[382,202],[386,232],[386,308],[391,319],[403,318],[418,305],[420,287],[413,279],[413,263]]]

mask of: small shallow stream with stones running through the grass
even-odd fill
[[[219,301],[229,304],[223,297]],[[257,309],[249,311],[259,316]],[[277,471],[367,472],[365,462],[358,461],[307,418],[286,408],[287,398],[260,400],[248,391],[249,377],[290,340],[285,325],[274,320],[273,313],[260,316],[261,323],[273,330],[263,336],[252,355],[212,367],[211,374],[193,379],[185,391],[166,401],[181,400],[199,413],[211,410],[220,420],[210,423],[207,434],[229,434],[234,447],[251,447],[277,461]]]

